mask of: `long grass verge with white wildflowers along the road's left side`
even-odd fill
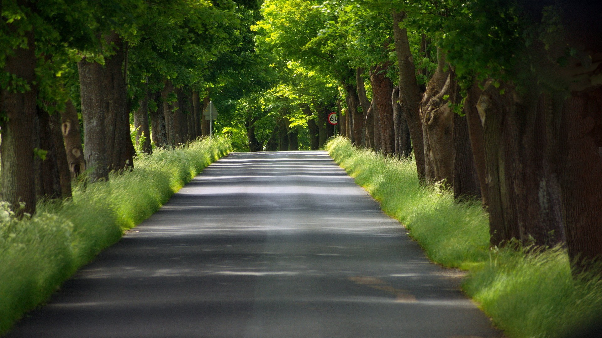
[[[0,335],[229,149],[225,138],[204,138],[139,155],[134,170],[80,183],[73,198],[41,202],[36,215],[22,220],[1,205]]]

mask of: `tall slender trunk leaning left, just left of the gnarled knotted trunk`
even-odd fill
[[[410,51],[408,31],[400,28],[399,23],[405,17],[405,12],[393,12],[393,36],[395,38],[395,50],[397,52],[397,63],[399,64],[399,90],[402,109],[408,121],[408,128],[414,147],[414,157],[418,170],[418,179],[424,182],[426,174],[424,166],[424,144],[422,123],[420,121],[420,100],[422,94],[416,82],[416,68]]]

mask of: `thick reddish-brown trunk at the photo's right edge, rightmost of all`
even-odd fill
[[[573,271],[602,257],[602,90],[566,100],[560,128],[560,188]]]

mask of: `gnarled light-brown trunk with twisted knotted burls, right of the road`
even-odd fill
[[[451,185],[453,173],[453,110],[458,84],[450,70],[444,70],[445,55],[437,49],[437,69],[420,102],[427,184],[444,180]],[[447,97],[447,98],[446,98]]]

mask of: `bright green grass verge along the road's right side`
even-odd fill
[[[420,186],[413,160],[385,158],[342,137],[326,150],[431,260],[468,270],[463,289],[507,336],[563,337],[600,318],[600,277],[573,278],[563,248],[490,248],[480,202],[457,203],[450,191]]]

